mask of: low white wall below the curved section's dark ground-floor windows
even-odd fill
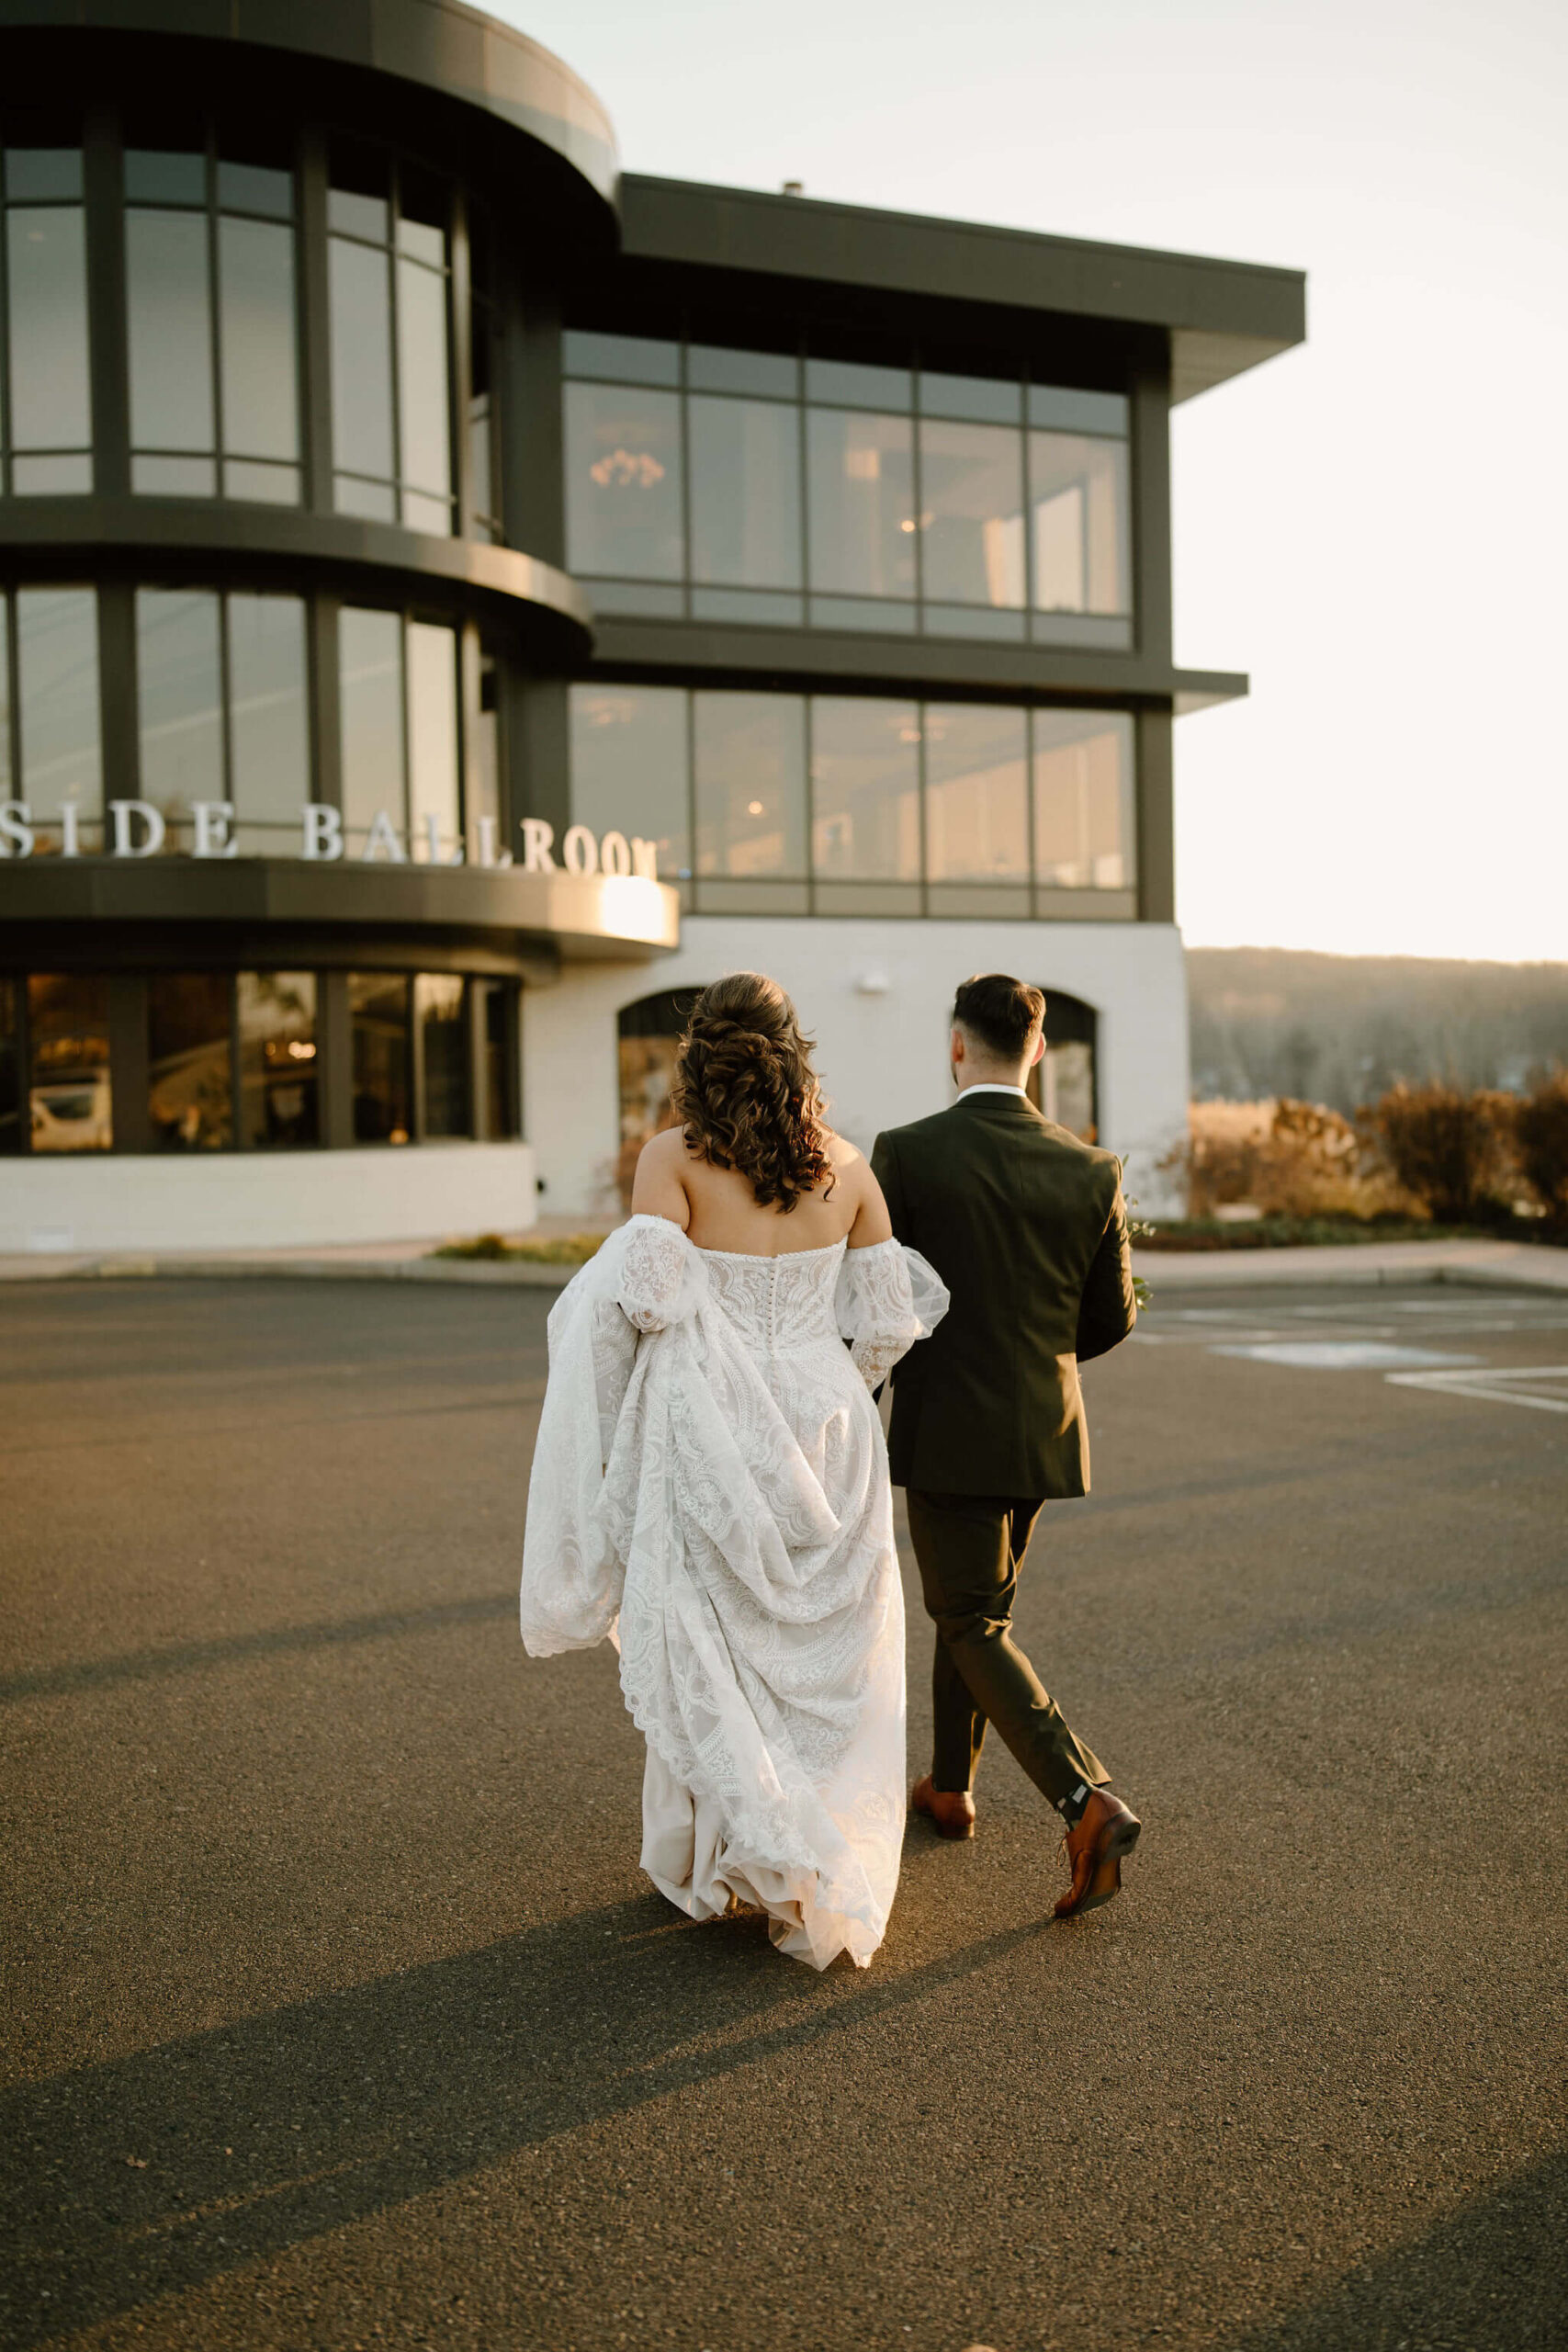
[[[0,1160],[0,1256],[440,1242],[517,1232],[534,1216],[527,1143]]]

